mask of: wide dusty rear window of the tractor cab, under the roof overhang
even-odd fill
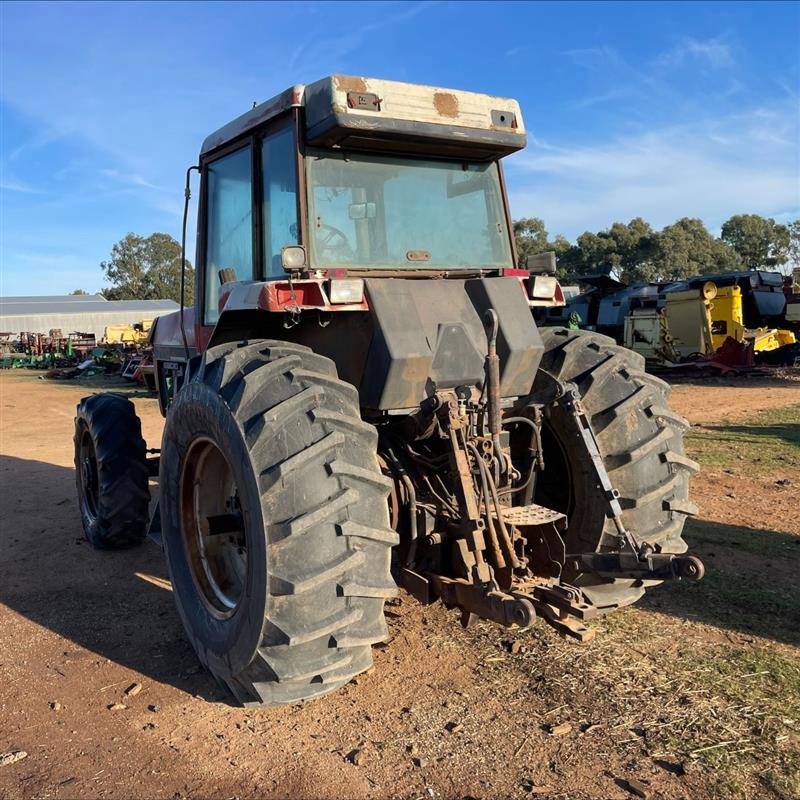
[[[512,266],[497,165],[310,150],[314,266]]]

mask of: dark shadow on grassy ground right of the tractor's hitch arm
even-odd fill
[[[705,578],[658,587],[641,608],[800,645],[800,536],[695,519],[685,539]]]

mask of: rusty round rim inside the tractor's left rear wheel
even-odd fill
[[[247,581],[245,510],[233,471],[210,439],[195,440],[183,463],[181,531],[195,586],[208,611],[231,617]]]

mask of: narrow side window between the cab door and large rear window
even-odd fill
[[[283,128],[265,137],[261,145],[264,173],[264,272],[284,277],[281,248],[297,244],[297,156],[294,130]]]

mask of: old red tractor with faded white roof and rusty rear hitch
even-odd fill
[[[560,289],[548,258],[516,261],[501,159],[525,141],[514,100],[333,75],[187,170],[196,300],[150,332],[160,447],[128,399],[86,397],[76,481],[92,545],[163,547],[238,702],[368,669],[398,587],[464,625],[538,617],[586,641],[702,577],[668,386],[605,336],[534,322]]]

